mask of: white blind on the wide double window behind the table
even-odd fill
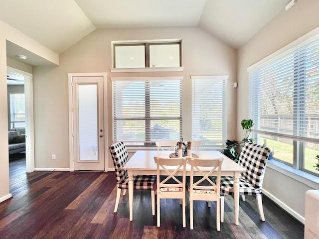
[[[112,78],[113,140],[181,138],[181,77]]]

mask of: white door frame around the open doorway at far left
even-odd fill
[[[34,171],[34,111],[33,111],[33,75],[31,73],[6,67],[7,71],[24,76],[24,100],[25,100],[25,166],[26,172]]]

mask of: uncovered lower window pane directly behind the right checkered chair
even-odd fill
[[[294,162],[294,141],[287,138],[280,138],[271,135],[259,134],[258,143],[267,146],[271,150],[273,159],[278,159],[288,164]]]

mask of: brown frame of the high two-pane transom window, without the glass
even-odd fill
[[[181,40],[173,40],[173,41],[141,41],[141,42],[116,42],[113,43],[113,64],[112,67],[114,69],[126,69],[126,68],[116,68],[116,47],[121,46],[145,46],[145,66],[142,68],[157,68],[157,67],[150,67],[150,46],[151,45],[179,45],[179,66],[182,66],[182,53],[181,53]],[[134,69],[134,68],[129,68]]]

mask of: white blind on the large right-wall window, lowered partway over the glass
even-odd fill
[[[319,37],[253,67],[249,80],[255,129],[319,138]]]

